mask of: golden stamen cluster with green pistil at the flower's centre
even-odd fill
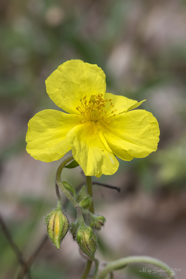
[[[86,95],[80,99],[81,106],[78,106],[76,109],[84,116],[86,119],[82,120],[81,123],[86,121],[93,121],[93,122],[100,122],[100,121],[107,121],[110,122],[109,118],[115,116],[113,114],[117,111],[115,108],[111,111],[114,107],[113,103],[111,102],[112,99],[103,99],[103,94],[91,95],[90,100],[86,100]],[[108,103],[110,102],[110,106]],[[107,108],[105,109],[105,107]],[[111,112],[110,112],[111,111]]]

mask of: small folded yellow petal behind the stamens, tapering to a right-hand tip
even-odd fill
[[[109,100],[112,99],[112,103],[114,105],[113,110],[116,108],[117,111],[114,112],[116,115],[128,110],[131,110],[133,108],[137,108],[140,104],[142,104],[144,101],[138,103],[136,100],[129,99],[125,96],[121,95],[113,95],[112,93],[106,93],[105,99]],[[105,108],[107,109],[107,107]]]

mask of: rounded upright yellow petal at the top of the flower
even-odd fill
[[[46,80],[47,93],[51,100],[68,113],[80,114],[76,107],[80,98],[105,94],[106,82],[103,70],[96,64],[82,60],[69,60],[60,65]]]

